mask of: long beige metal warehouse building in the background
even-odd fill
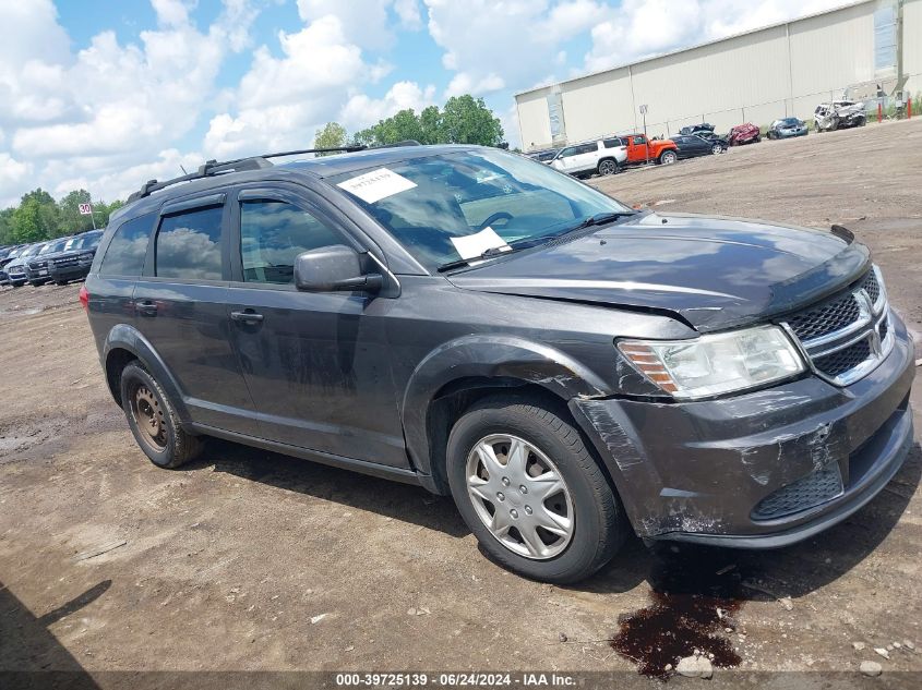
[[[702,121],[812,118],[817,104],[922,92],[922,0],[864,0],[516,94],[525,150]],[[922,113],[920,113],[922,114]]]

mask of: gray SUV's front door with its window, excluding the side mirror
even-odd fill
[[[231,215],[226,318],[261,435],[409,467],[385,341],[391,300],[295,288],[298,254],[333,244],[366,247],[301,187],[243,187]]]

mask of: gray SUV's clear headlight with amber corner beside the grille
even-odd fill
[[[800,353],[777,326],[694,340],[622,340],[618,349],[652,383],[681,399],[743,390],[804,371]]]

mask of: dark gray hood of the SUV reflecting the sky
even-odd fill
[[[706,332],[797,310],[869,266],[867,247],[845,229],[646,213],[448,279],[468,290],[670,312]]]

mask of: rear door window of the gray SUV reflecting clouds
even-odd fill
[[[220,280],[220,206],[167,216],[157,232],[160,278]]]

